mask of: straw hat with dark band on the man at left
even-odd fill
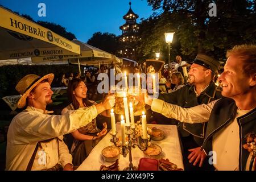
[[[35,88],[36,85],[39,84],[42,80],[49,80],[49,84],[51,85],[54,75],[52,73],[40,77],[38,75],[30,74],[24,76],[16,85],[15,89],[22,95],[18,101],[18,108],[22,108],[26,105],[26,100],[28,94],[30,94],[31,90]]]

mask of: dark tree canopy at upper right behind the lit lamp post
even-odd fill
[[[197,53],[207,53],[216,59],[225,59],[225,52],[236,44],[256,43],[255,1],[216,0],[179,1],[147,0],[160,15],[142,21],[142,42],[138,46],[140,59],[154,57],[156,49],[167,60],[168,49],[164,32],[174,30],[171,57],[181,53],[193,59]],[[209,3],[216,3],[217,16],[209,16]],[[144,26],[144,27],[143,27]]]

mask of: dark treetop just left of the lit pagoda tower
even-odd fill
[[[118,37],[108,32],[95,32],[87,42],[88,44],[100,48],[103,51],[115,54],[118,47]]]

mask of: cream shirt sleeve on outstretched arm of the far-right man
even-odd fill
[[[181,122],[202,123],[209,120],[210,112],[216,102],[217,100],[209,104],[184,108],[156,99],[153,100],[151,109],[152,111],[163,114],[167,118],[174,118]]]

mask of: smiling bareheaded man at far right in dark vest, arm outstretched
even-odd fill
[[[234,46],[226,57],[224,72],[218,77],[224,98],[184,108],[158,99],[150,100],[145,94],[145,103],[153,111],[181,122],[208,122],[200,150],[192,150],[189,156],[193,164],[201,165],[208,155],[211,158],[205,162],[219,171],[256,171],[256,45]],[[191,69],[205,63],[206,67],[216,67],[211,65],[212,60],[205,61],[205,56],[197,56],[195,61]]]

